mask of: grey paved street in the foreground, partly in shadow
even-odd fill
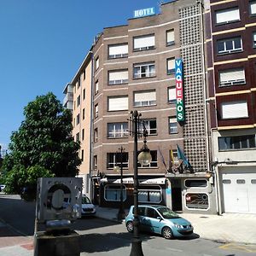
[[[33,255],[34,204],[20,201],[17,196],[0,195],[0,255]],[[207,227],[206,227],[207,228]],[[74,229],[81,235],[81,256],[129,255],[131,234],[125,225],[102,218],[79,219]],[[256,255],[256,245],[219,243],[201,239],[165,240],[160,236],[142,234],[144,255]]]

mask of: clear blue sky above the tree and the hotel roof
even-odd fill
[[[168,2],[168,1],[165,1]],[[0,145],[7,148],[23,109],[52,91],[59,100],[93,38],[160,0],[0,0]]]

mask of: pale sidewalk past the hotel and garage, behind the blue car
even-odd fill
[[[117,221],[118,209],[97,207],[96,216]],[[127,210],[126,210],[127,212]],[[256,244],[256,214],[224,213],[208,215],[181,213],[194,226],[194,232],[201,238],[219,242]]]

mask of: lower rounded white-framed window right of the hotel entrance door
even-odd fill
[[[189,209],[204,209],[209,207],[209,198],[205,193],[187,193],[185,195],[186,207]]]

